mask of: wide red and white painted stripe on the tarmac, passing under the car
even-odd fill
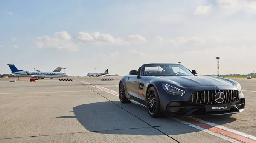
[[[119,97],[119,93],[110,89],[107,89],[105,87],[100,87],[98,85],[95,84],[90,84],[88,82],[82,81],[85,84],[89,84],[93,87],[96,87],[98,89],[104,90],[105,92],[111,93],[112,95],[116,95]],[[186,118],[190,118],[186,119]],[[252,135],[247,135],[245,133],[236,131],[236,130],[232,130],[229,128],[226,128],[224,126],[220,126],[218,124],[215,123],[210,123],[207,121],[203,121],[201,119],[195,118],[195,117],[186,117],[183,119],[180,118],[174,118],[172,117],[172,119],[179,121],[180,123],[184,123],[186,125],[192,126],[196,129],[199,129],[203,132],[207,132],[211,135],[215,135],[216,137],[220,137],[224,140],[233,142],[233,143],[239,143],[239,141],[241,142],[245,142],[245,143],[256,143],[256,137],[252,136]],[[197,123],[196,123],[197,122]],[[197,124],[197,125],[195,125]],[[235,140],[233,140],[235,139]]]

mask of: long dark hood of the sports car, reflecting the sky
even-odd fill
[[[216,76],[158,76],[159,78],[166,79],[173,84],[182,87],[195,87],[195,86],[233,86],[234,84],[228,79]]]

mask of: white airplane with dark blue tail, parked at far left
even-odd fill
[[[14,64],[7,64],[7,65],[9,65],[12,71],[12,74],[14,74],[17,77],[32,77],[35,79],[72,77],[62,72],[31,72],[31,71],[25,71],[25,70],[18,70]]]

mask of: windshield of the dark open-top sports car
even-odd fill
[[[144,76],[193,76],[186,67],[180,64],[154,64],[146,65]]]

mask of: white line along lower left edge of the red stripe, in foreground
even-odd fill
[[[220,138],[222,138],[222,139],[224,139],[224,140],[227,140],[227,141],[229,141],[229,142],[231,142],[231,143],[241,143],[241,142],[239,142],[239,141],[237,141],[237,140],[234,140],[234,139],[231,138],[231,137],[227,137],[227,136],[224,136],[224,135],[222,135],[222,134],[220,134],[220,133],[215,133],[215,132],[209,131],[208,129],[204,129],[204,128],[200,127],[200,126],[196,126],[196,125],[194,125],[194,124],[188,123],[188,122],[183,121],[183,120],[180,120],[180,119],[178,119],[178,118],[174,118],[174,117],[170,117],[170,118],[172,118],[172,119],[174,119],[174,120],[176,120],[176,121],[179,121],[180,123],[184,123],[185,125],[188,125],[188,126],[191,126],[191,127],[193,127],[193,128],[199,129],[199,130],[201,130],[201,131],[203,131],[203,132],[207,132],[208,134],[214,135],[214,136],[216,136],[216,137],[220,137]]]

